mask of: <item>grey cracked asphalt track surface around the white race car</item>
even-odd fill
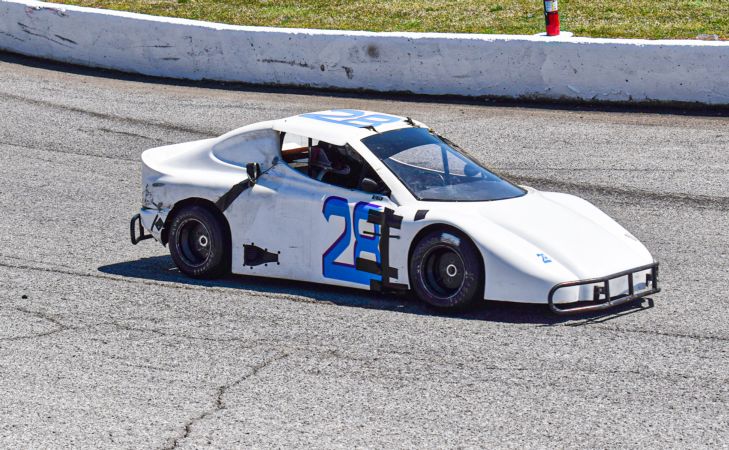
[[[729,118],[176,85],[0,54],[0,447],[726,447]],[[606,315],[186,279],[141,152],[345,107],[594,202],[660,260]],[[302,233],[292,224],[292,233]]]

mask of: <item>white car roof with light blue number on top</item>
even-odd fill
[[[273,129],[334,145],[361,140],[384,131],[425,126],[403,116],[355,109],[330,109],[276,120]]]

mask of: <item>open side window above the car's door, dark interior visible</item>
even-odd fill
[[[281,141],[281,156],[293,169],[314,180],[345,189],[390,195],[377,173],[349,145],[334,145],[286,133]],[[365,179],[374,181],[377,188]]]

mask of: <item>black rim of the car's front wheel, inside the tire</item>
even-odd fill
[[[466,279],[466,265],[453,247],[439,245],[423,256],[422,279],[431,295],[450,298],[458,294]]]

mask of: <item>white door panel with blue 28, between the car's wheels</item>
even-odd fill
[[[233,272],[369,289],[380,275],[355,263],[380,262],[379,226],[367,216],[384,207],[395,205],[279,164],[229,208]]]

